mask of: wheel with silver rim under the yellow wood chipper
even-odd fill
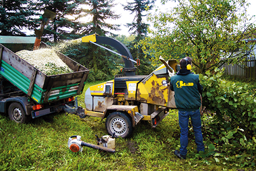
[[[133,133],[130,118],[122,112],[112,112],[108,115],[105,125],[106,130],[111,135],[115,133],[115,136],[127,138]]]

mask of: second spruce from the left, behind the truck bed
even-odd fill
[[[42,14],[45,9],[56,13],[55,19],[44,27],[42,41],[53,41],[56,43],[61,40],[80,38],[81,35],[78,35],[73,29],[81,27],[82,23],[76,19],[69,19],[69,17],[79,14],[79,5],[83,2],[84,0],[33,1],[30,4],[30,8],[34,10],[35,14]],[[37,17],[37,19],[39,18],[40,16]],[[40,20],[37,20],[38,27],[40,27],[40,24]]]

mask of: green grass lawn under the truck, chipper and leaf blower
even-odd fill
[[[95,83],[87,83],[88,86]],[[84,105],[84,93],[79,96]],[[207,117],[204,118],[207,122]],[[204,137],[207,137],[202,129]],[[212,155],[197,158],[193,131],[189,132],[186,160],[178,159],[173,151],[179,149],[177,110],[152,129],[150,123],[140,123],[129,139],[116,139],[115,154],[84,147],[74,153],[67,147],[70,136],[96,144],[108,134],[105,119],[76,115],[53,114],[17,124],[7,115],[0,115],[0,170],[253,170],[236,163],[218,161]],[[207,142],[205,141],[205,144]],[[207,148],[207,147],[206,147]]]

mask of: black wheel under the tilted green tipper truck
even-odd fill
[[[27,123],[30,121],[30,116],[26,115],[26,112],[20,103],[12,103],[9,105],[8,110],[9,118],[17,123]]]

